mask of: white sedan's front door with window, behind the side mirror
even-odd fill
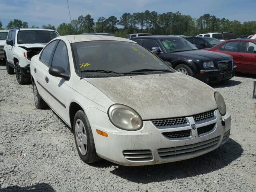
[[[51,66],[60,66],[64,68],[65,71],[70,72],[68,48],[62,40],[60,40],[56,46],[54,55],[52,56]],[[68,122],[68,102],[70,98],[67,97],[67,93],[72,92],[69,87],[70,81],[50,74],[47,77],[49,79],[47,85],[49,91],[48,103],[64,121]]]

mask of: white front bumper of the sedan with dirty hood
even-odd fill
[[[125,166],[162,164],[206,154],[228,140],[231,127],[230,114],[221,116],[218,110],[214,111],[216,118],[200,124],[196,124],[193,117],[188,117],[189,124],[184,127],[160,129],[148,120],[144,121],[141,130],[133,132],[115,128],[106,113],[97,114],[91,109],[86,114],[97,116],[94,117],[96,120],[104,119],[102,122],[96,120],[94,122],[88,117],[97,154],[106,160]],[[196,124],[195,130],[192,130],[193,124]],[[198,136],[198,128],[211,124],[215,124],[215,127],[210,132]],[[97,134],[96,129],[106,132],[108,137]],[[191,130],[191,136],[170,139],[162,134],[180,130]]]

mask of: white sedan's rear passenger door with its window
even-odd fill
[[[50,61],[52,58],[53,50],[56,47],[57,40],[50,42],[42,50],[39,60],[34,60],[32,65],[30,65],[30,70],[34,70],[34,80],[36,83],[36,88],[40,96],[48,103],[48,80]]]

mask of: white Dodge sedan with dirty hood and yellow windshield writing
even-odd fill
[[[30,70],[36,107],[50,106],[72,128],[86,163],[174,162],[229,138],[220,93],[132,40],[60,36],[32,58]]]

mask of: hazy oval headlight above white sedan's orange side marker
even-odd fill
[[[143,126],[140,115],[126,105],[114,104],[110,106],[108,117],[112,124],[120,129],[136,131]]]

